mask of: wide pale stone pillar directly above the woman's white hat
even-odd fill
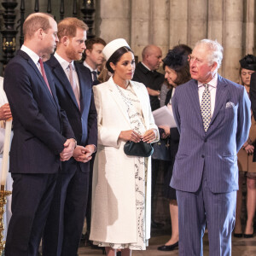
[[[101,24],[97,36],[107,43],[116,38],[125,38],[127,43],[131,44],[131,2],[127,0],[96,1],[96,7],[99,6]]]

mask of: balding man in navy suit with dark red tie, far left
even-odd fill
[[[13,215],[7,256],[38,255],[60,159],[69,160],[76,144],[55,95],[54,80],[41,59],[55,49],[57,24],[50,15],[33,14],[25,20],[23,32],[24,44],[6,67],[3,83],[14,118],[9,164]]]

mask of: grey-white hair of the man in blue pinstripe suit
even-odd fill
[[[209,65],[216,62],[218,65],[217,68],[221,66],[221,61],[223,59],[223,47],[217,42],[217,40],[213,41],[210,39],[202,39],[195,44],[195,46],[197,45],[206,45],[207,48],[210,49],[210,53],[207,56]]]

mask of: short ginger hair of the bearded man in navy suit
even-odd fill
[[[65,36],[68,38],[74,38],[77,33],[77,28],[81,28],[85,31],[88,30],[88,26],[84,23],[83,20],[72,17],[61,20],[58,23],[58,38],[61,39]]]

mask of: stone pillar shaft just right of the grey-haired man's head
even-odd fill
[[[239,60],[242,56],[243,0],[224,0],[224,78],[239,80]]]

